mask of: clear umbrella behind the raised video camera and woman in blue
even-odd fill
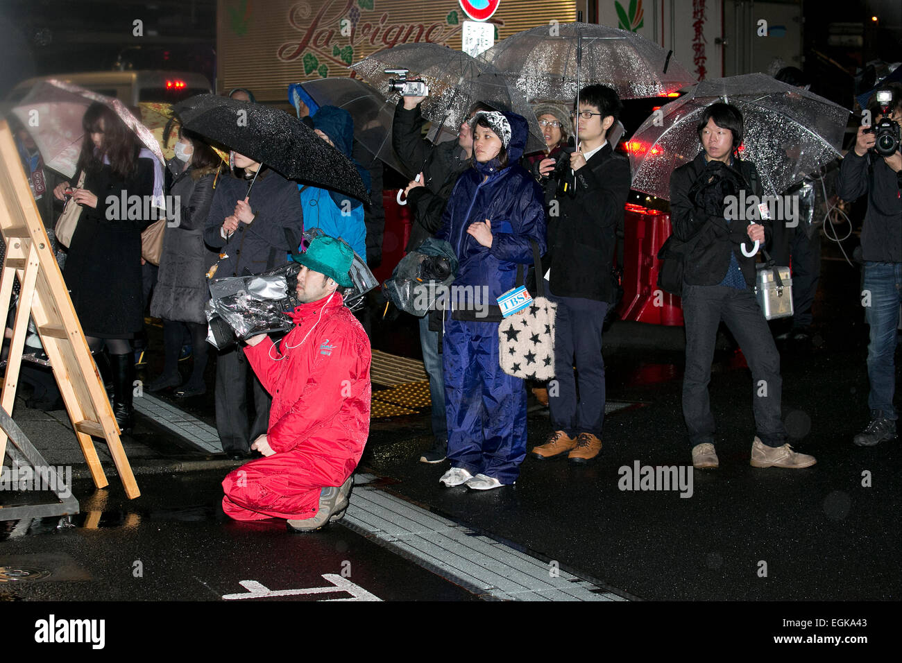
[[[465,52],[455,51],[436,43],[420,42],[400,44],[353,65],[360,76],[377,88],[391,104],[399,94],[389,85],[394,74],[385,69],[410,69],[408,78],[422,78],[429,87],[428,99],[420,106],[423,116],[433,123],[434,137],[437,130],[445,128],[456,135],[467,111],[475,101],[484,101],[499,110],[522,115],[529,123],[526,152],[545,148],[545,139],[526,97],[487,62],[471,58]]]

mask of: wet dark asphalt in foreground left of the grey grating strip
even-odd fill
[[[246,593],[239,583],[248,580],[274,591],[335,585],[324,574],[383,601],[476,598],[341,524],[290,534],[283,520],[232,521],[219,506],[221,480],[221,472],[143,475],[133,501],[118,486],[79,481],[78,515],[0,522],[0,566],[52,574],[0,582],[0,601],[218,601]],[[335,588],[280,598],[351,597]]]

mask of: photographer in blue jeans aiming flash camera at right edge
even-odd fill
[[[862,303],[870,325],[870,423],[852,439],[859,447],[873,447],[897,437],[893,355],[902,304],[902,153],[898,144],[902,86],[884,87],[875,97],[879,107],[871,104],[871,115],[878,123],[877,130],[865,124],[859,127],[854,148],[842,160],[837,181],[843,200],[851,202],[868,195],[868,211],[861,228],[861,255],[864,260]]]

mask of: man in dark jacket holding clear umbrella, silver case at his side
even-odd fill
[[[699,469],[719,465],[708,383],[721,320],[739,341],[751,369],[757,428],[751,465],[793,469],[815,465],[813,456],[798,454],[787,444],[780,412],[780,358],[752,293],[754,258],[742,250],[744,243],[765,243],[771,234],[770,221],[750,223],[725,214],[725,198],[738,196],[742,189],[760,195],[754,164],[736,156],[742,143],[742,114],[736,106],[712,104],[696,130],[703,152],[674,170],[670,178],[673,234],[688,244],[682,290],[686,320],[683,415],[693,465]]]

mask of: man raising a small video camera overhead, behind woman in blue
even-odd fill
[[[404,92],[406,90],[401,90]],[[477,111],[493,110],[488,104],[476,102],[460,125],[456,141],[434,145],[423,138],[426,119],[419,105],[427,97],[401,96],[391,124],[391,146],[404,168],[419,173],[411,180],[404,195],[413,216],[410,241],[406,251],[415,251],[428,237],[435,235],[442,225],[442,214],[457,178],[469,167],[473,156],[473,133],[470,118]],[[423,456],[422,463],[440,463],[447,451],[447,423],[445,413],[445,382],[442,359],[438,355],[438,332],[429,331],[429,317],[419,318],[419,344],[423,364],[429,375],[429,395],[432,401],[432,435],[435,442]]]

